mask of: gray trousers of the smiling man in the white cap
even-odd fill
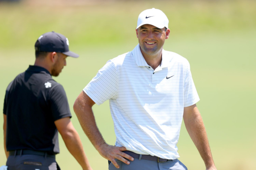
[[[109,170],[187,170],[187,167],[178,159],[175,159],[173,161],[167,161],[164,163],[158,163],[157,161],[149,161],[143,159],[134,159],[134,161],[129,161],[129,165],[117,159],[115,160],[117,161],[120,168],[117,169],[113,163],[110,163]]]

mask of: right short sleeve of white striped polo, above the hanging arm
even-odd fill
[[[194,81],[190,72],[190,66],[187,66],[187,73],[184,84],[184,107],[196,104],[199,101],[199,96],[196,92]]]

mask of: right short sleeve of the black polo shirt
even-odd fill
[[[70,117],[68,98],[62,85],[56,85],[49,94],[49,105],[55,120]]]

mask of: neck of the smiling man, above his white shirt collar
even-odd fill
[[[162,50],[160,50],[159,53],[154,54],[154,55],[149,55],[145,52],[143,52],[140,49],[145,61],[147,62],[148,65],[150,65],[152,67],[152,69],[156,69],[162,62]]]

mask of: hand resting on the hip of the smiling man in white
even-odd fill
[[[131,161],[134,160],[133,157],[131,157],[130,155],[127,155],[124,152],[122,152],[122,151],[125,151],[125,150],[126,150],[126,148],[123,147],[123,146],[122,147],[117,147],[117,146],[112,146],[112,145],[104,143],[100,146],[100,149],[98,151],[99,151],[99,153],[102,157],[111,161],[111,163],[113,163],[116,168],[119,168],[119,165],[115,161],[115,159],[118,159],[118,160],[120,160],[123,163],[126,163],[128,165],[130,164],[130,162],[127,161],[126,159],[129,159]]]

